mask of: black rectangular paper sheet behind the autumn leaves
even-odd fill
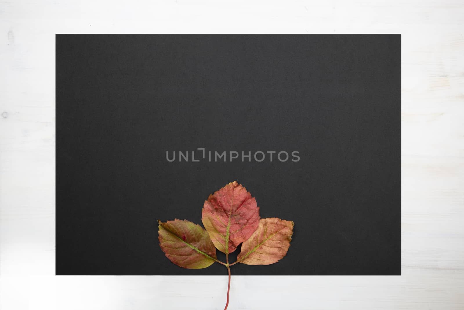
[[[57,35],[57,275],[224,275],[172,264],[156,221],[201,224],[233,180],[295,222],[284,259],[233,275],[400,275],[400,55],[400,35]],[[197,148],[300,160],[166,160]]]

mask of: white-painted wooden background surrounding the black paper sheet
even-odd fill
[[[55,33],[402,33],[403,275],[236,276],[229,309],[464,309],[463,0],[1,0],[1,310],[225,304],[226,276],[53,276]]]

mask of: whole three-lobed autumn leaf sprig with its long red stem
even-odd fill
[[[237,263],[269,265],[282,259],[290,247],[293,222],[280,218],[259,218],[255,198],[245,187],[232,182],[209,195],[201,211],[200,225],[187,220],[158,221],[161,250],[171,262],[189,269],[206,268],[217,262],[227,268],[229,305],[230,267]],[[242,244],[237,261],[229,264],[229,253]],[[226,263],[216,257],[216,248],[226,253]]]

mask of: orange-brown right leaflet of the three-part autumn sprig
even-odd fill
[[[242,244],[237,261],[247,265],[269,265],[282,259],[290,247],[293,221],[261,218],[258,229]]]

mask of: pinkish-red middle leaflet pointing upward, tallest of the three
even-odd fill
[[[235,251],[259,224],[256,199],[235,181],[209,195],[201,213],[201,220],[213,244],[226,254]]]

